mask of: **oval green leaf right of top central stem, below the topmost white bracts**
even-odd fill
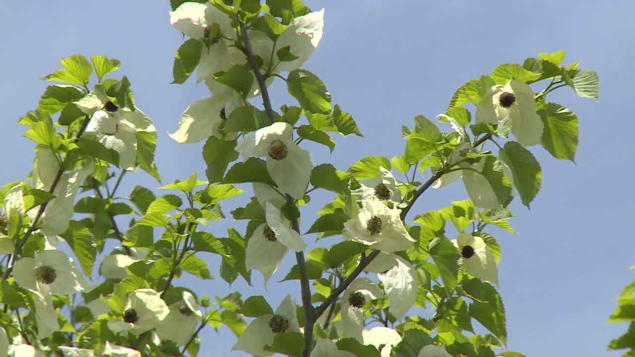
[[[291,71],[286,88],[305,111],[326,113],[331,109],[331,93],[318,76],[305,69]]]

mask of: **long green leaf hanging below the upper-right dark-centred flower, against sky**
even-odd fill
[[[518,190],[523,205],[529,208],[542,182],[542,170],[538,160],[525,147],[514,141],[506,142],[505,146],[498,151],[498,157],[511,170],[514,186]]]

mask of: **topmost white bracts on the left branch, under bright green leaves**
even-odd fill
[[[154,133],[156,128],[144,112],[134,107],[119,108],[110,102],[101,86],[95,88],[86,97],[74,104],[91,116],[86,134],[94,134],[108,149],[119,153],[119,166],[125,170],[134,170],[137,159],[137,131]]]

